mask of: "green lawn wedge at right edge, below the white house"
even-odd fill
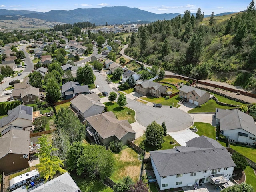
[[[252,160],[253,162],[256,162],[256,148],[250,148],[245,145],[239,145],[239,144],[231,144],[230,148],[236,150],[240,154],[246,156],[248,159]]]

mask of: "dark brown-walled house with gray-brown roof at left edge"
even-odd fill
[[[0,172],[9,174],[29,167],[29,132],[12,129],[0,137]]]

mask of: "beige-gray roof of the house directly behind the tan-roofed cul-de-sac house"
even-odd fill
[[[91,95],[93,95],[93,96],[90,97]],[[87,95],[79,94],[74,99],[72,99],[70,102],[74,106],[76,106],[76,108],[78,108],[78,110],[80,110],[82,113],[86,112],[88,109],[90,109],[94,105],[104,107],[105,105],[102,104],[101,102],[99,102],[96,99],[95,95],[97,95],[97,94],[96,93],[87,94]],[[98,96],[98,98],[100,98],[100,97]]]

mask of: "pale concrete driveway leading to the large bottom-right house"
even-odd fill
[[[186,142],[195,138],[199,137],[198,134],[192,132],[190,129],[185,129],[176,132],[167,132],[168,135],[172,136],[181,146],[187,146]]]

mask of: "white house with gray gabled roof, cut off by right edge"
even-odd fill
[[[238,109],[216,109],[216,125],[230,142],[256,145],[256,125],[252,116]]]

